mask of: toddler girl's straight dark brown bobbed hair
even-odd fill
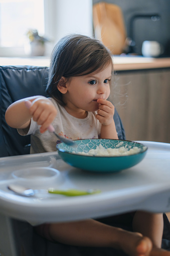
[[[83,35],[63,37],[54,47],[46,92],[64,106],[57,88],[61,77],[70,78],[103,70],[112,64],[109,50],[98,40]]]

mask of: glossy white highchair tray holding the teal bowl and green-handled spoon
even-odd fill
[[[0,158],[0,213],[36,223],[96,218],[137,209],[170,211],[170,144],[139,142],[148,147],[145,158],[120,173],[85,172],[65,163],[57,152]],[[49,173],[27,175],[33,169]],[[26,198],[8,189],[13,183],[31,189],[98,189],[101,193]]]

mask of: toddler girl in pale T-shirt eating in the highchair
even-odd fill
[[[47,129],[50,124],[72,140],[117,139],[114,106],[107,101],[112,73],[112,57],[101,42],[82,35],[65,36],[51,57],[50,98],[34,96],[13,103],[6,121],[21,135],[31,134],[31,153],[56,151],[56,137]],[[26,101],[32,103],[30,109]],[[130,256],[170,256],[161,249],[162,214],[137,211],[132,227],[134,232],[129,232],[89,219],[42,224],[37,230],[51,241],[71,245],[113,247]]]

